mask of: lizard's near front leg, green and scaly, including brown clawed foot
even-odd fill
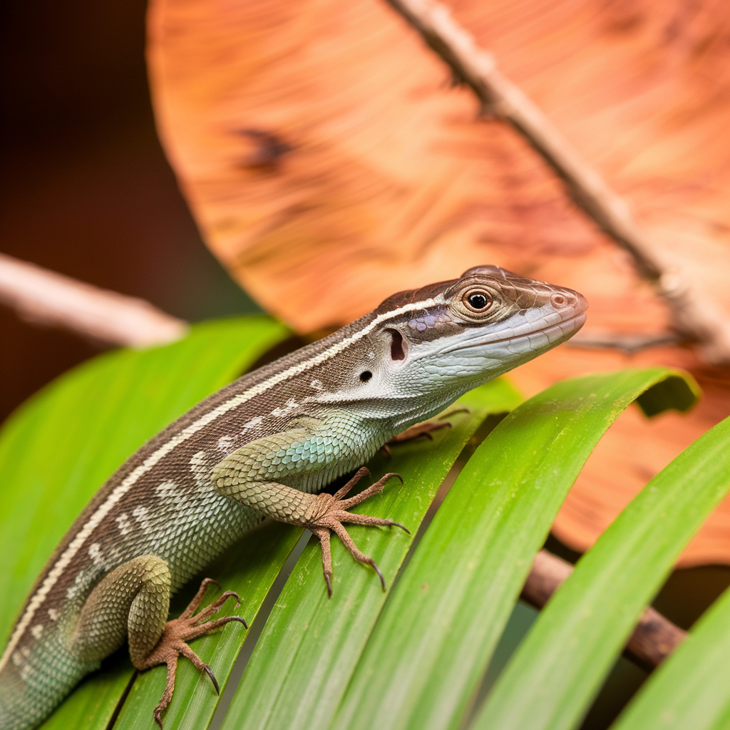
[[[311,421],[314,422],[314,419]],[[383,491],[383,485],[391,477],[400,479],[400,476],[386,474],[350,499],[343,498],[364,475],[369,474],[365,467],[334,495],[310,494],[278,481],[285,477],[316,472],[333,463],[339,456],[337,445],[323,440],[312,426],[304,426],[250,442],[229,454],[213,468],[212,480],[215,488],[221,494],[246,504],[262,515],[312,531],[322,549],[322,566],[328,596],[332,595],[331,532],[337,534],[356,560],[373,567],[385,589],[385,580],[377,564],[358,550],[342,523],[397,526],[406,530],[393,520],[353,515],[347,511],[373,494]]]

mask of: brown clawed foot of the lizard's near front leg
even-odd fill
[[[330,532],[337,534],[345,548],[350,551],[350,554],[357,561],[366,563],[373,567],[374,571],[380,577],[380,584],[383,585],[383,591],[385,591],[385,578],[383,573],[380,572],[380,568],[375,564],[372,558],[369,558],[364,553],[358,550],[357,546],[353,542],[353,539],[347,534],[347,530],[342,525],[343,522],[350,522],[356,525],[383,525],[385,527],[400,527],[406,532],[408,530],[400,523],[393,522],[393,520],[385,520],[380,517],[370,517],[369,515],[353,515],[347,510],[351,507],[355,507],[356,504],[361,504],[369,497],[374,494],[378,494],[383,491],[383,486],[391,477],[398,477],[403,483],[401,475],[399,474],[386,474],[381,477],[377,482],[370,485],[368,488],[356,494],[356,496],[350,497],[350,499],[343,499],[355,486],[358,481],[361,480],[365,475],[369,475],[369,469],[365,466],[358,469],[357,474],[345,484],[342,489],[339,489],[334,494],[317,494],[314,496],[314,505],[311,508],[310,514],[312,517],[307,522],[307,528],[312,531],[312,534],[320,541],[320,547],[322,548],[322,569],[324,572],[324,580],[327,584],[327,595],[331,598],[332,596],[332,553],[330,549]],[[410,532],[408,532],[410,534]]]

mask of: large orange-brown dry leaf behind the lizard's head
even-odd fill
[[[453,12],[730,312],[723,3],[461,0]],[[582,291],[589,327],[666,328],[626,255],[512,128],[477,119],[469,91],[381,1],[153,0],[149,60],[161,137],[207,244],[300,331],[485,263]],[[611,429],[556,522],[576,548],[730,412],[727,372],[680,348],[563,347],[515,380],[530,394],[629,364],[685,366],[707,395],[690,416],[629,413]],[[730,503],[683,560],[730,562]]]

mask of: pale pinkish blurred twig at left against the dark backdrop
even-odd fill
[[[183,337],[188,324],[144,299],[99,289],[0,254],[0,301],[21,318],[110,345],[147,347]]]

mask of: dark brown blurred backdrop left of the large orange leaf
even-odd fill
[[[201,242],[158,142],[146,2],[0,7],[0,251],[188,320],[255,309]],[[0,420],[99,352],[1,305],[0,342]]]

